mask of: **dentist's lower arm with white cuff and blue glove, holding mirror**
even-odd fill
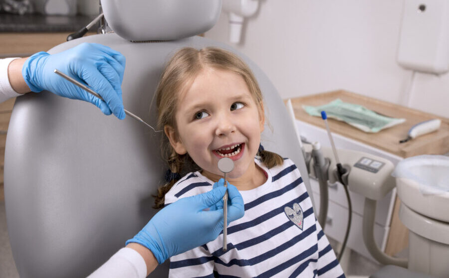
[[[218,183],[223,183],[221,179]],[[226,188],[178,201],[160,210],[133,239],[89,278],[146,277],[168,258],[215,240],[223,230],[223,209],[215,209]],[[227,186],[230,205],[228,223],[244,214],[243,199],[237,188]],[[205,211],[206,208],[212,208]],[[140,255],[140,256],[138,256]],[[146,269],[145,269],[146,268]]]

